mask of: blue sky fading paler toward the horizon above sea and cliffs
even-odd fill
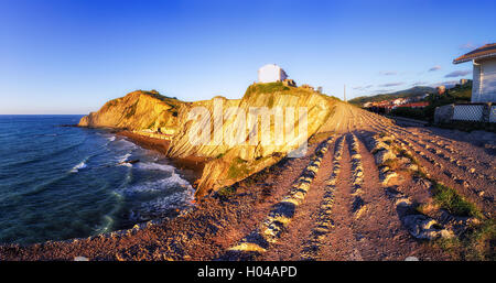
[[[268,63],[347,97],[472,77],[496,1],[0,0],[0,115],[87,113],[136,89],[239,98]]]

